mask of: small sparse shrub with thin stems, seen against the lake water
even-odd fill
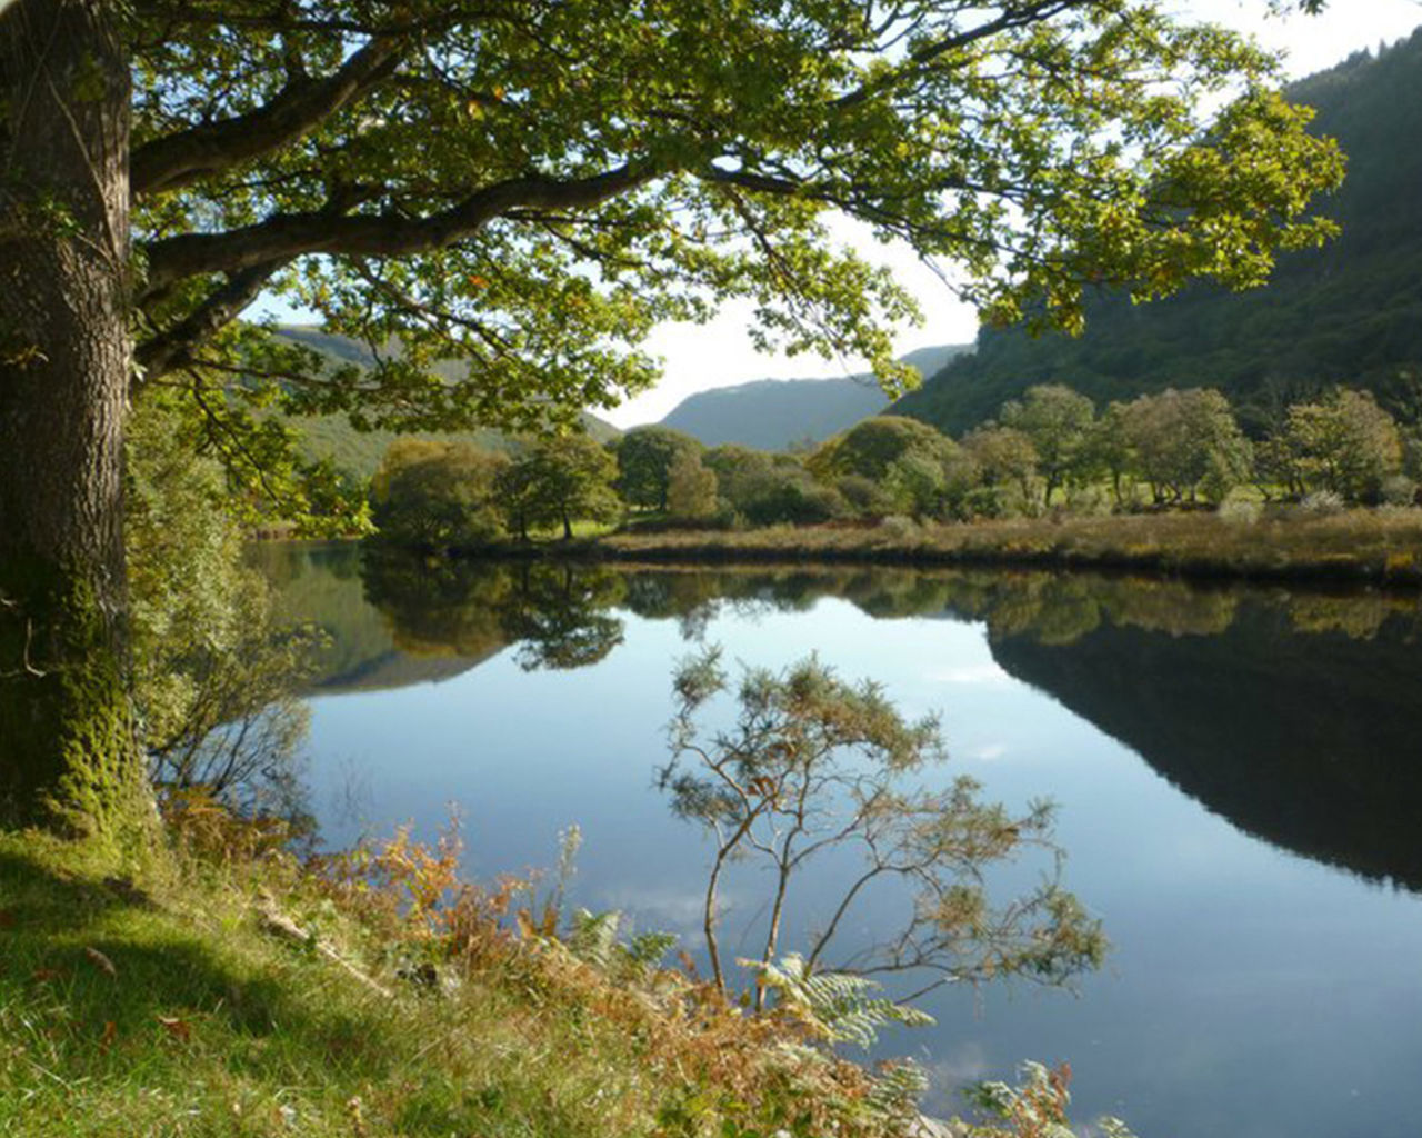
[[[943,760],[936,718],[909,721],[879,686],[846,683],[813,657],[784,673],[747,669],[732,684],[711,650],[681,666],[674,690],[673,757],[658,781],[675,814],[714,839],[701,916],[717,984],[725,984],[717,929],[728,866],[752,858],[768,871],[764,940],[754,950],[764,966],[782,950],[782,918],[808,863],[846,851],[860,865],[845,869],[838,896],[815,913],[809,972],[906,974],[923,991],[1014,974],[1059,983],[1101,962],[1099,923],[1055,881],[990,903],[991,866],[1051,849],[1051,808],[1010,815],[981,801],[967,777],[946,789],[916,785]],[[705,728],[707,706],[732,690],[734,718]],[[914,890],[910,916],[845,953],[846,922],[889,882]]]

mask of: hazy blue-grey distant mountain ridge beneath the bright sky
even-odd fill
[[[971,346],[940,344],[910,351],[903,361],[931,376]],[[762,451],[784,451],[798,442],[820,442],[863,418],[883,411],[889,398],[873,376],[829,380],[752,380],[700,391],[678,403],[663,427],[685,431],[708,447],[738,442]]]

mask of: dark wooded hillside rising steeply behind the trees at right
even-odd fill
[[[1081,339],[983,330],[894,405],[960,434],[1032,384],[1064,383],[1098,404],[1166,387],[1217,387],[1246,427],[1318,387],[1375,391],[1401,418],[1422,408],[1422,30],[1298,83],[1313,129],[1348,155],[1342,189],[1321,212],[1342,225],[1325,249],[1281,257],[1264,289],[1194,287],[1133,306],[1102,297]]]

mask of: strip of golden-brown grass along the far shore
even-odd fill
[[[877,526],[623,532],[569,549],[646,562],[998,563],[1415,587],[1422,585],[1422,511],[1065,515],[957,525],[887,519]]]

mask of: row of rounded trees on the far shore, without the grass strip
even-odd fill
[[[803,454],[704,447],[670,427],[606,445],[582,434],[512,452],[402,438],[371,482],[388,541],[472,548],[572,538],[580,522],[754,528],[1035,516],[1264,501],[1412,504],[1422,447],[1365,391],[1280,407],[1250,438],[1216,390],[1167,388],[1098,408],[1039,384],[958,440],[876,415]]]

